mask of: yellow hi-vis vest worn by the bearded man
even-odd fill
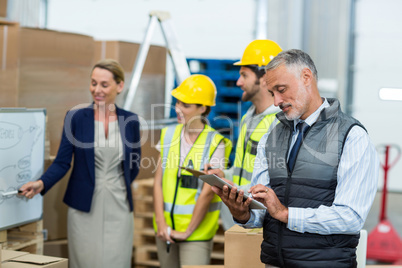
[[[258,142],[265,133],[271,131],[279,122],[275,114],[264,116],[253,130],[246,143],[247,124],[244,122],[245,116],[246,115],[243,116],[241,122],[242,128],[236,144],[236,156],[233,165],[233,182],[237,185],[246,185],[251,182]]]

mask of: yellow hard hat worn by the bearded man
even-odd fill
[[[254,40],[244,50],[243,57],[233,65],[258,65],[266,66],[281,52],[281,47],[271,40]]]

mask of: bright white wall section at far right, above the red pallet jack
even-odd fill
[[[400,114],[402,102],[384,101],[379,98],[383,87],[402,90],[402,10],[401,1],[357,1],[356,55],[354,73],[353,115],[369,131],[374,144],[380,150],[383,144],[402,147]],[[392,151],[390,161],[396,158]],[[384,172],[380,172],[382,188]],[[388,172],[388,189],[402,191],[402,160]]]

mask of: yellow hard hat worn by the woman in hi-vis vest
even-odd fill
[[[172,90],[172,96],[184,103],[215,106],[216,87],[208,76],[193,74]]]

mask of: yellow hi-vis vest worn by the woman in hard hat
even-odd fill
[[[179,124],[165,128],[161,133],[164,216],[166,223],[179,232],[185,232],[190,224],[195,204],[203,187],[203,182],[200,179],[185,170],[179,169],[182,129],[183,125]],[[202,170],[204,164],[209,163],[211,156],[222,141],[225,144],[225,158],[227,160],[231,150],[230,141],[206,125],[182,165],[192,165],[191,168]],[[186,241],[204,241],[213,238],[218,229],[221,204],[220,198],[215,195],[204,219]],[[155,222],[154,228],[156,231]]]

